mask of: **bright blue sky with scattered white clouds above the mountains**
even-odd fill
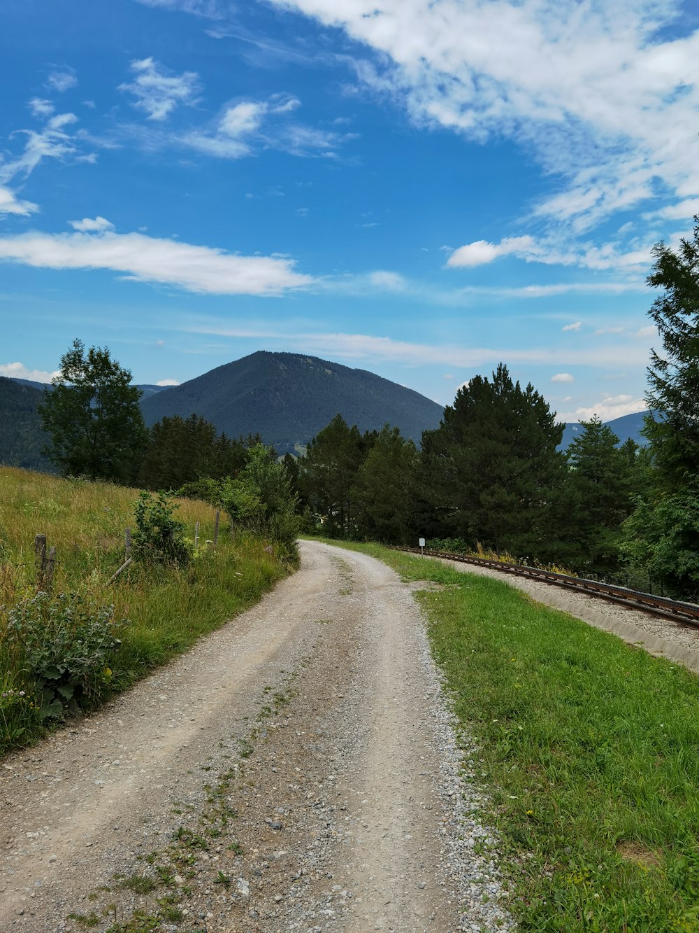
[[[699,7],[5,0],[0,374],[258,349],[441,404],[501,361],[644,408],[651,247],[699,213]]]

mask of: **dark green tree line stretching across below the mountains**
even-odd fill
[[[174,489],[291,541],[330,537],[509,553],[578,573],[643,576],[699,591],[699,217],[677,252],[654,247],[653,351],[639,448],[598,419],[561,452],[564,425],[501,363],[445,408],[420,447],[391,425],[361,433],[338,414],[295,459],[259,437],[228,439],[197,415],[150,430],[130,372],[80,341],[40,409],[67,474]]]

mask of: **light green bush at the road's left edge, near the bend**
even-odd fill
[[[298,533],[296,497],[287,472],[270,448],[257,444],[235,480],[222,484],[221,503],[232,522],[279,542],[295,556]]]

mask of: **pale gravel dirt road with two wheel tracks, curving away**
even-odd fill
[[[259,606],[0,762],[0,930],[508,928],[462,756],[410,588],[305,542]]]

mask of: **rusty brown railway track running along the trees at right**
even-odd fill
[[[664,596],[653,596],[650,592],[629,590],[623,586],[612,583],[599,583],[581,577],[569,577],[568,574],[557,574],[553,570],[539,570],[537,567],[528,567],[525,564],[508,564],[505,561],[492,561],[486,557],[465,557],[463,554],[449,554],[444,550],[431,550],[430,548],[399,548],[392,550],[405,550],[413,554],[424,553],[428,557],[445,557],[449,561],[458,561],[459,564],[474,564],[478,567],[489,567],[503,574],[514,577],[541,580],[551,586],[561,587],[564,590],[586,592],[590,595],[605,599],[609,603],[617,603],[632,609],[641,609],[653,616],[662,616],[684,625],[699,628],[699,606],[692,603],[680,603],[674,599],[665,599]]]

